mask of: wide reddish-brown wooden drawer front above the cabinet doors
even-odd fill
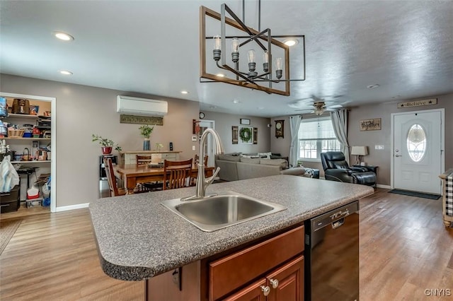
[[[210,300],[217,300],[304,251],[304,226],[212,261]]]

